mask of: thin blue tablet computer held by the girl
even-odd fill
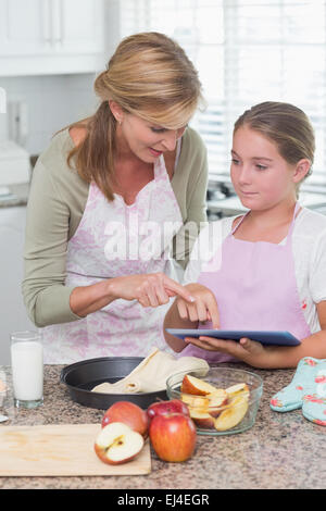
[[[217,339],[231,339],[240,340],[242,337],[248,337],[252,340],[258,340],[262,345],[275,346],[298,346],[301,344],[289,332],[284,331],[218,331],[218,329],[183,329],[183,328],[166,328],[166,332],[175,337],[184,339],[185,337],[215,337]]]

